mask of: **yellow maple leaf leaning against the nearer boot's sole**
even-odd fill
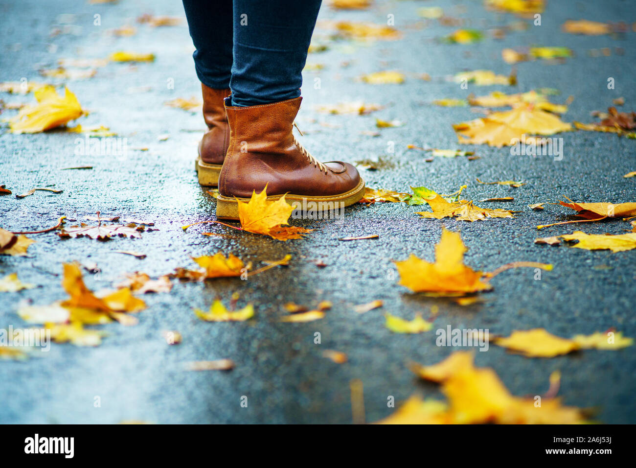
[[[243,230],[270,236],[279,241],[287,239],[301,239],[303,234],[311,232],[304,227],[289,226],[289,216],[294,211],[293,206],[285,201],[285,195],[275,200],[267,199],[267,187],[259,194],[252,192],[249,202],[239,201],[239,220]]]

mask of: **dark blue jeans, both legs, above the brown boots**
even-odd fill
[[[197,76],[234,106],[300,96],[321,0],[183,0]]]

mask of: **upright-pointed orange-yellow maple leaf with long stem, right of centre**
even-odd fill
[[[402,262],[394,262],[400,276],[399,284],[413,292],[439,295],[464,295],[489,290],[481,281],[481,271],[464,265],[466,247],[457,232],[442,228],[441,239],[435,246],[435,263],[418,259],[415,255]]]

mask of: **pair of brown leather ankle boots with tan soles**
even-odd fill
[[[265,185],[268,199],[286,195],[292,203],[349,206],[363,197],[364,181],[354,166],[319,162],[294,137],[301,97],[233,107],[229,89],[202,85],[202,90],[208,131],[199,143],[196,168],[201,185],[219,187],[217,218],[239,219],[238,202]]]

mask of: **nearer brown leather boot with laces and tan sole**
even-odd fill
[[[291,204],[314,212],[340,209],[363,197],[364,181],[354,166],[318,162],[294,138],[301,100],[249,107],[231,107],[225,100],[230,146],[219,176],[217,218],[239,219],[238,201],[249,201],[265,185],[268,199],[285,195]]]

